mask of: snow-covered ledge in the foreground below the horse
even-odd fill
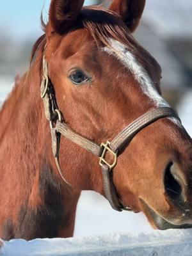
[[[12,240],[4,242],[1,256],[191,256],[192,230],[154,230],[135,234],[109,234],[68,239]]]

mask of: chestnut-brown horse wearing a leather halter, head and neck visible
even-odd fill
[[[1,109],[4,240],[73,236],[82,190],[143,211],[154,228],[191,227],[191,138],[161,95],[159,64],[132,36],[145,0],[83,3],[51,1]]]

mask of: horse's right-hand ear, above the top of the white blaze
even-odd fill
[[[131,32],[137,28],[145,8],[145,0],[113,0],[109,9],[118,13]]]

